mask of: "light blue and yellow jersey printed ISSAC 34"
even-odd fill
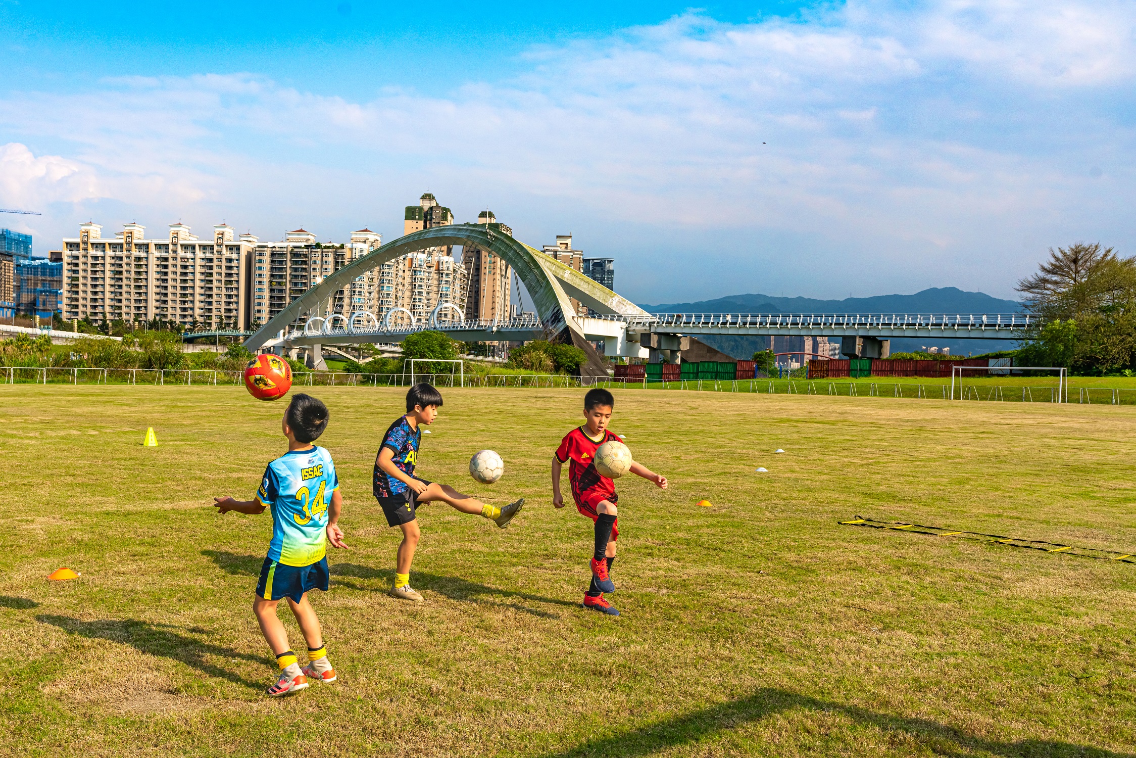
[[[324,557],[327,505],[340,489],[332,453],[290,450],[268,464],[257,501],[273,511],[268,557],[285,566],[310,566]]]

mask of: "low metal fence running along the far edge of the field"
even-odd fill
[[[349,374],[346,372],[303,372],[293,374],[293,386],[410,386],[429,382],[435,386],[456,388],[457,374]],[[50,366],[0,366],[5,384],[153,384],[153,385],[239,385],[241,372],[208,368],[66,368]],[[682,380],[652,382],[643,378],[608,377],[580,382],[578,376],[561,374],[523,375],[486,374],[465,376],[469,388],[574,389],[603,386],[609,389],[650,391],[743,392],[753,394],[812,394],[844,398],[907,398],[950,400],[946,384],[899,382],[829,382],[825,380]],[[1068,388],[1066,402],[1104,406],[1136,406],[1136,389]],[[1056,402],[1058,388],[1037,385],[977,385],[962,388],[960,400],[982,402]]]

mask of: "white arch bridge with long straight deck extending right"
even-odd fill
[[[408,252],[442,245],[476,245],[500,256],[517,272],[537,314],[473,322],[466,320],[453,303],[440,305],[425,323],[417,323],[401,308],[393,309],[382,322],[364,311],[349,316],[329,313],[335,293],[368,270]],[[576,298],[599,315],[576,316],[569,298]],[[395,318],[399,323],[394,323]],[[296,327],[298,322],[302,326]],[[845,353],[874,357],[879,355],[883,341],[892,338],[1019,339],[1036,322],[1037,317],[1030,314],[649,314],[576,269],[501,232],[495,224],[452,224],[401,236],[344,266],[292,301],[249,336],[244,345],[253,351],[308,347],[314,360],[319,361],[323,344],[399,342],[424,330],[442,331],[466,342],[551,338],[584,350],[588,356],[582,366],[585,376],[607,376],[593,341],[604,343],[607,356],[671,359],[683,336],[827,336],[844,340]]]

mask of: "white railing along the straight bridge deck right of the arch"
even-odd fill
[[[654,314],[595,316],[628,326],[699,328],[880,328],[1021,332],[1037,323],[1035,314]]]

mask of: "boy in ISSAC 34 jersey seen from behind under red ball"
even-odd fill
[[[307,394],[292,395],[282,422],[287,452],[268,464],[257,498],[214,498],[222,514],[235,510],[257,515],[265,508],[273,514],[273,541],[260,568],[252,611],[281,669],[276,684],[268,688],[274,698],[303,690],[309,678],[336,678],[327,660],[319,617],[308,602],[309,590],[327,591],[325,538],[333,548],[346,548],[337,525],[343,500],[335,464],[326,449],[311,444],[327,428],[327,419],[323,402]],[[287,632],[276,615],[282,598],[287,598],[308,643],[308,665],[303,668],[289,648]]]

